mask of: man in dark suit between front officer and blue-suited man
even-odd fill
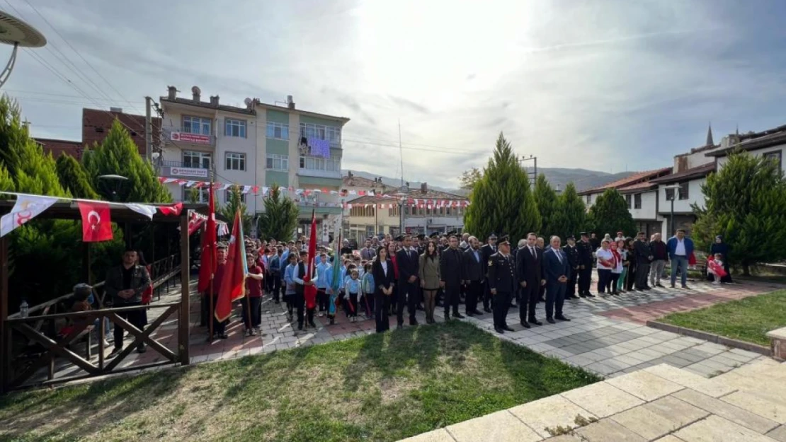
[[[543,280],[541,264],[543,261],[543,250],[537,246],[538,236],[534,233],[527,235],[527,245],[516,254],[516,276],[519,285],[523,289],[521,302],[519,303],[519,319],[524,328],[530,328],[530,324],[543,325],[535,317],[535,306],[538,305],[540,298],[540,287],[545,283]]]

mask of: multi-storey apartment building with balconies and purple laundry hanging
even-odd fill
[[[263,189],[277,184],[299,204],[301,228],[310,224],[312,208],[322,219],[341,213],[341,131],[349,119],[298,109],[292,96],[285,106],[256,98],[230,106],[218,95],[204,101],[197,86],[190,97],[169,86],[160,102],[160,176],[209,181],[212,172],[216,182],[243,186],[251,213],[263,211]],[[177,200],[191,192],[187,184],[166,185]],[[206,201],[207,190],[199,192]],[[217,192],[218,203],[228,195],[228,189]]]

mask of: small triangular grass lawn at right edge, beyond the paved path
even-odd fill
[[[786,290],[724,302],[707,309],[672,313],[659,321],[769,345],[766,333],[786,327]]]

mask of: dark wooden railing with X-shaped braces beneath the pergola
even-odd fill
[[[158,295],[158,300],[160,300],[162,290],[168,291],[170,287],[174,287],[178,283],[178,277],[181,276],[180,264],[179,255],[172,255],[156,261],[150,266],[153,290],[154,294]],[[21,317],[19,312],[9,315],[6,320],[7,342],[3,342],[2,348],[0,348],[2,363],[6,365],[5,370],[2,371],[3,378],[0,379],[2,391],[140,370],[163,364],[188,363],[188,352],[183,351],[188,346],[188,327],[187,325],[182,327],[182,323],[188,324],[188,314],[187,309],[182,308],[183,304],[180,299],[165,303],[154,301],[149,305],[112,307],[107,302],[108,300],[104,299],[103,285],[103,282],[94,285],[94,294],[97,296],[99,307],[95,310],[68,311],[69,305],[72,304],[70,301],[73,294],[65,294],[51,301],[31,306],[28,309],[27,317]],[[134,327],[120,315],[120,313],[142,309],[164,309],[164,311],[143,330]],[[178,348],[174,351],[167,349],[165,345],[151,337],[152,333],[173,313],[178,317]],[[184,315],[185,317],[183,317]],[[105,318],[115,327],[122,328],[134,337],[134,342],[123,347],[111,360],[107,360],[105,357],[106,330],[103,327]],[[97,355],[94,356],[91,351],[94,345],[91,335],[96,320],[99,324],[96,330],[98,338],[95,342],[98,348]],[[64,325],[68,327],[61,327]],[[80,339],[85,339],[86,345],[84,352],[78,353],[75,351],[75,344]],[[146,344],[149,349],[160,353],[165,360],[119,367],[120,363],[142,343]],[[59,367],[58,363],[60,363]],[[45,379],[42,368],[47,365]],[[58,372],[74,366],[81,368],[85,373],[57,375]]]

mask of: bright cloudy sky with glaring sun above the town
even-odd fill
[[[786,124],[782,0],[29,1],[0,9],[49,45],[3,91],[35,137],[80,140],[83,107],[144,114],[169,85],[292,95],[351,119],[343,169],[399,177],[403,152],[407,181],[454,187],[500,132],[538,166],[615,173],[669,166],[710,122],[716,142]]]

